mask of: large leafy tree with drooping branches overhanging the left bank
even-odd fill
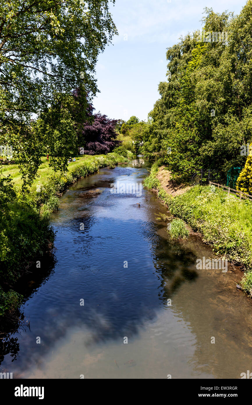
[[[66,117],[66,108],[71,111],[77,102],[73,89],[82,89],[78,102],[84,120],[85,107],[97,92],[98,54],[116,27],[108,0],[8,0],[1,3],[0,15],[0,145],[13,145],[24,182],[30,184],[48,137],[31,124],[33,114],[48,122],[48,109],[57,111],[57,121],[60,115],[73,139]],[[57,104],[64,104],[64,111]],[[67,135],[57,137],[61,149],[65,142]],[[55,160],[55,169],[62,164]]]

